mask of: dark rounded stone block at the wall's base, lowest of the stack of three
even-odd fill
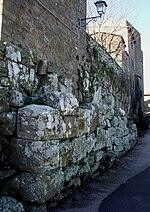
[[[5,186],[13,196],[20,195],[24,201],[42,204],[63,190],[64,173],[60,170],[47,174],[21,173]]]

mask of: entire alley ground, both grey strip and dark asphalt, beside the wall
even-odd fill
[[[65,200],[64,203],[57,208],[53,210],[49,209],[49,211],[149,212],[150,206],[145,202],[145,200],[147,200],[150,203],[150,180],[148,179],[150,176],[149,167],[150,130],[145,133],[144,137],[138,139],[137,145],[121,159],[117,167],[109,170],[109,172],[105,173],[103,176],[94,179],[92,182],[84,186],[84,188],[81,188],[78,192],[69,196],[68,200]],[[137,195],[135,195],[134,190],[137,187],[139,189],[136,192]],[[147,187],[147,189],[145,189],[145,187]],[[131,192],[131,195],[133,196],[130,195],[129,197],[128,194]],[[130,210],[129,203],[131,203],[131,198],[134,199],[134,203]],[[142,205],[139,204],[140,201],[143,201]]]

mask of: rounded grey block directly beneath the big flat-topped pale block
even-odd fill
[[[13,139],[11,163],[20,170],[42,173],[59,167],[58,141]]]

